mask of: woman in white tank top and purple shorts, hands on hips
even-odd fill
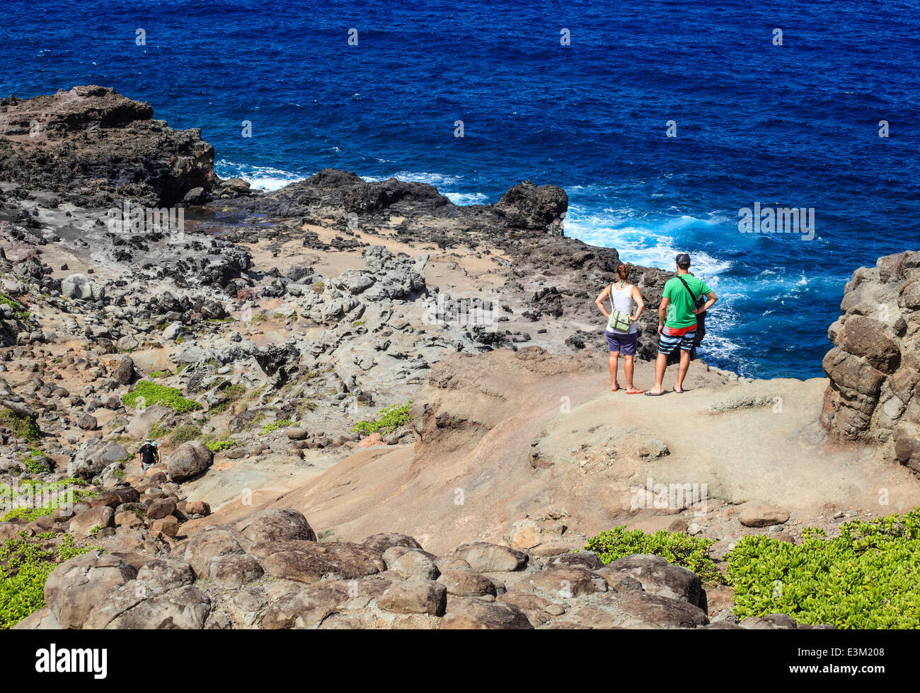
[[[642,294],[634,284],[627,283],[629,278],[629,267],[620,265],[616,267],[617,280],[601,291],[594,303],[601,312],[607,316],[607,350],[610,357],[607,359],[607,365],[610,367],[610,380],[613,381],[611,392],[620,389],[616,382],[616,363],[623,354],[623,371],[627,376],[627,394],[639,394],[642,392],[633,385],[633,358],[636,356],[636,346],[638,344],[638,332],[636,330],[636,321],[642,311],[645,310],[645,301],[642,301]],[[610,312],[604,305],[604,301],[610,300]]]

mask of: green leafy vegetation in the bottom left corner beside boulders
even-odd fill
[[[60,546],[49,550],[43,548],[44,542],[51,539],[47,533],[31,538],[25,535],[20,532],[19,538],[9,538],[0,545],[0,629],[3,630],[45,606],[45,581],[59,562],[98,549],[77,546],[74,538],[65,534]]]

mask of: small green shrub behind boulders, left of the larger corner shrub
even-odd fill
[[[641,529],[627,529],[620,525],[607,529],[585,544],[606,565],[625,556],[653,553],[672,565],[680,565],[698,574],[708,584],[724,583],[716,563],[709,558],[709,547],[715,540],[692,537],[684,532],[666,532],[663,529],[646,534]]]

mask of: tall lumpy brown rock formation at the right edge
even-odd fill
[[[830,379],[822,422],[920,474],[920,252],[857,269],[840,308],[822,364]]]

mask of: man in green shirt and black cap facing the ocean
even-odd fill
[[[680,253],[674,262],[677,276],[664,284],[658,309],[658,358],[655,361],[655,387],[646,394],[662,393],[661,383],[668,367],[668,357],[680,349],[680,367],[674,392],[684,392],[684,376],[690,367],[690,352],[696,347],[697,316],[701,320],[719,297],[700,279],[690,274],[690,256]],[[705,300],[703,297],[706,297]],[[666,319],[665,319],[666,318]]]

